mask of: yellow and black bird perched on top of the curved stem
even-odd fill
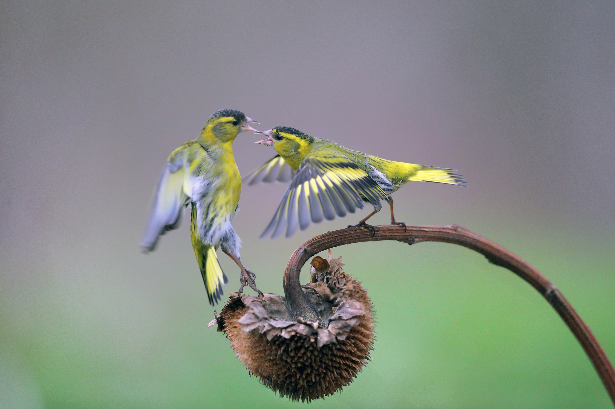
[[[248,185],[292,179],[261,237],[276,237],[285,227],[288,237],[297,227],[307,228],[310,221],[318,223],[354,213],[363,208],[363,201],[371,203],[374,211],[358,225],[373,228],[365,222],[380,211],[381,199],[391,206],[391,224],[405,225],[395,221],[391,193],[406,182],[466,185],[455,169],[378,158],[294,128],[276,127],[258,133],[266,138],[256,143],[273,146],[278,155],[248,174]]]

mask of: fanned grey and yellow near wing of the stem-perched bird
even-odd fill
[[[363,200],[379,206],[386,194],[371,177],[342,154],[314,152],[306,157],[284,193],[274,217],[261,235],[289,237],[297,226],[331,220],[363,208]]]

